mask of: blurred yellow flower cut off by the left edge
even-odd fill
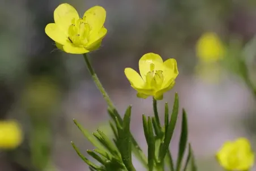
[[[15,121],[0,121],[0,149],[13,149],[22,143],[22,129]]]

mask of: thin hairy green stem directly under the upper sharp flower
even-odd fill
[[[89,70],[89,72],[92,76],[92,79],[95,82],[97,88],[100,90],[101,94],[103,95],[104,99],[106,100],[106,103],[108,104],[109,108],[112,110],[115,109],[113,102],[110,100],[110,98],[108,96],[108,93],[106,93],[104,87],[100,83],[98,76],[96,75],[95,71],[93,70],[91,63],[89,62],[89,59],[87,57],[87,54],[84,53],[83,56],[84,56],[84,61],[86,61],[87,69]]]

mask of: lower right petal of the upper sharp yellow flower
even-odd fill
[[[106,32],[106,28],[101,28],[98,33],[93,33],[93,35],[89,36],[89,42],[85,48],[88,50],[95,50],[97,47],[99,48],[101,41],[106,35]]]

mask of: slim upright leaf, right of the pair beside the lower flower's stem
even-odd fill
[[[155,137],[151,118],[148,117],[148,170],[153,171],[155,161]]]

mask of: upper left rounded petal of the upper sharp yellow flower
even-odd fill
[[[54,10],[54,22],[58,24],[62,32],[68,35],[69,27],[73,19],[78,20],[79,15],[74,7],[68,3],[62,3]]]

